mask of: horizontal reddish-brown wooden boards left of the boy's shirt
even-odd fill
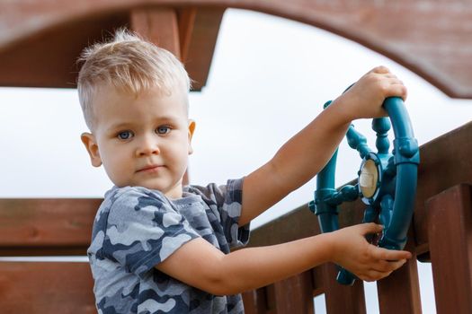
[[[1,256],[85,256],[101,199],[0,200]],[[96,313],[87,262],[0,262],[0,313]]]

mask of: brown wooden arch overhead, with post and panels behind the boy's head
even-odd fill
[[[75,87],[81,49],[128,25],[181,57],[200,90],[227,7],[332,31],[472,98],[472,3],[462,0],[0,0],[0,85]]]

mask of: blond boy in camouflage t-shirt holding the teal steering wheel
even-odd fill
[[[242,313],[240,292],[328,261],[372,281],[411,257],[370,245],[364,236],[381,231],[374,223],[229,250],[247,243],[254,217],[321,170],[353,119],[384,116],[386,97],[405,98],[387,68],[361,77],[244,179],[183,187],[195,129],[183,65],[126,31],[86,49],[82,60],[79,100],[91,131],[82,142],[114,184],[88,249],[99,312]]]

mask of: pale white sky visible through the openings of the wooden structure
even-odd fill
[[[352,41],[298,22],[229,10],[207,86],[191,93],[191,118],[197,121],[191,183],[225,183],[255,170],[315,118],[326,100],[376,65],[387,65],[408,87],[406,105],[420,144],[472,118],[472,100],[451,100]],[[111,188],[80,143],[86,127],[75,90],[0,88],[0,104],[0,197],[102,197]],[[370,120],[354,124],[375,147]],[[359,155],[341,144],[337,186],[354,179],[360,164]],[[306,204],[315,188],[315,180],[310,181],[253,227]],[[427,276],[421,280],[423,312],[431,313],[431,267],[420,266],[422,272]],[[375,293],[375,285],[366,286],[367,294]],[[323,309],[316,308],[319,312]],[[378,312],[378,306],[368,304],[368,312]]]

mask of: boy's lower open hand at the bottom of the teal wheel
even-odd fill
[[[368,282],[390,275],[412,255],[407,251],[378,248],[365,239],[367,234],[378,233],[382,229],[376,223],[362,223],[332,232],[331,260]]]

